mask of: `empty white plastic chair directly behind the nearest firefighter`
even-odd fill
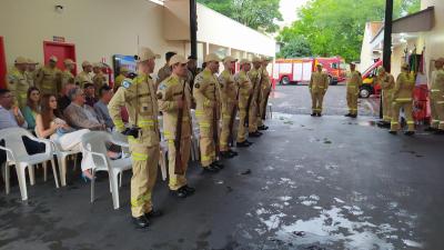
[[[92,167],[92,180],[91,180],[91,203],[94,202],[94,186],[95,186],[95,172],[107,171],[110,180],[110,190],[112,193],[112,203],[114,209],[120,208],[119,201],[119,177],[125,170],[132,168],[131,158],[121,158],[111,160],[108,157],[108,150],[105,142],[112,141],[111,133],[103,131],[92,131],[82,136],[82,148],[83,153],[90,153],[93,162]],[[123,156],[123,154],[122,154]],[[87,156],[83,156],[87,157]]]

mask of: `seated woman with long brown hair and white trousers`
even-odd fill
[[[41,100],[41,112],[36,117],[36,132],[40,138],[50,138],[63,150],[82,150],[81,138],[90,132],[88,129],[74,130],[68,126],[57,109],[57,99],[53,94],[44,94]],[[81,163],[82,178],[91,180],[91,157],[83,153]]]

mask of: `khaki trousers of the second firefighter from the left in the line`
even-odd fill
[[[174,140],[168,140],[168,172],[170,176],[169,187],[170,190],[178,190],[186,184],[185,172],[188,168],[188,161],[190,160],[191,150],[191,137],[181,139],[181,166],[183,169],[183,174],[179,176],[174,173],[175,168],[175,146]]]

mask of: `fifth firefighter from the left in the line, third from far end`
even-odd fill
[[[248,59],[242,59],[239,62],[239,66],[241,70],[234,76],[234,80],[239,86],[239,127],[236,147],[245,148],[253,143],[246,140],[248,127],[245,126],[246,116],[249,114],[246,103],[250,94],[253,92],[253,84],[248,76],[248,72],[251,69],[251,62]]]

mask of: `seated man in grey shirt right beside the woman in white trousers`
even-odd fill
[[[64,110],[63,116],[68,123],[75,129],[90,129],[90,130],[103,130],[102,124],[94,110],[85,106],[85,99],[83,90],[79,87],[74,87],[68,92],[68,97],[71,100],[71,104]]]

